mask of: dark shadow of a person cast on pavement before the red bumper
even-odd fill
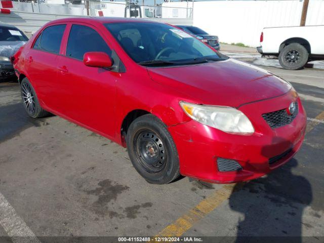
[[[288,143],[281,138],[278,144],[292,147]],[[266,146],[261,154],[269,157],[270,150]],[[312,227],[302,217],[313,195],[310,182],[293,172],[297,167],[292,158],[267,176],[234,186],[229,206],[242,215],[235,242],[302,242],[302,225]]]

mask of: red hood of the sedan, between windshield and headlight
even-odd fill
[[[231,58],[197,65],[147,69],[155,82],[208,105],[238,107],[280,96],[292,88],[289,83],[262,68]]]

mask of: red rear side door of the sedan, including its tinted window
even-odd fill
[[[66,24],[46,27],[25,57],[28,77],[45,108],[55,106],[56,67]]]

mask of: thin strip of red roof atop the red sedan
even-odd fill
[[[51,21],[49,23],[62,23],[62,22],[81,22],[81,23],[128,23],[128,22],[143,22],[143,23],[158,23],[152,20],[140,19],[140,18],[120,18],[120,17],[95,17],[95,16],[86,16],[86,17],[73,17],[73,18],[64,18]]]

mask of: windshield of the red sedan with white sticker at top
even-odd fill
[[[224,58],[190,34],[167,24],[133,22],[105,26],[139,64],[189,64],[205,57],[213,61]]]

